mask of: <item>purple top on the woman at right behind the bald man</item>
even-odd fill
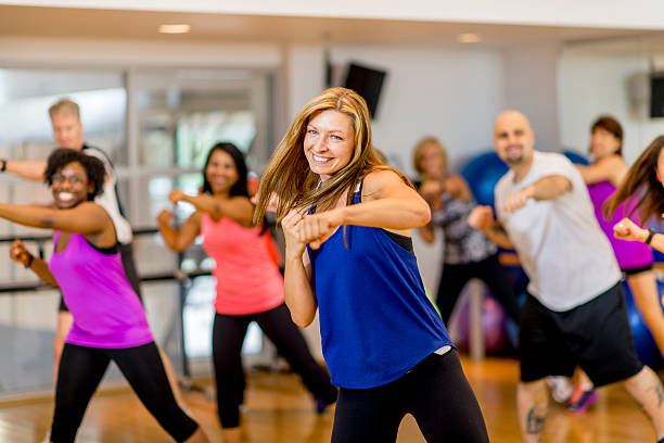
[[[588,193],[592,205],[595,206],[595,216],[600,224],[600,227],[609,238],[613,252],[617,258],[618,265],[623,270],[637,269],[652,265],[652,250],[647,244],[638,241],[618,240],[613,237],[613,226],[618,223],[625,214],[629,214],[637,202],[636,199],[629,199],[621,204],[613,217],[610,220],[604,219],[602,214],[602,204],[615,192],[615,187],[610,181],[600,181],[595,185],[588,185]],[[627,204],[627,212],[625,206]],[[638,211],[635,213],[635,215]],[[635,217],[631,217],[635,223],[639,223]]]

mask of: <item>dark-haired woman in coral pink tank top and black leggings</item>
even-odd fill
[[[251,321],[260,326],[299,374],[319,412],[334,403],[336,389],[330,376],[309,353],[283,302],[283,278],[272,256],[271,238],[263,227],[253,226],[254,207],[240,150],[231,143],[215,144],[203,167],[202,192],[187,195],[175,189],[169,199],[173,203],[187,201],[196,212],[179,229],[170,225],[170,211],[159,214],[158,228],[168,248],[182,251],[203,235],[203,248],[216,262],[213,357],[226,441],[239,442],[241,438],[240,405],[245,387],[241,349]]]

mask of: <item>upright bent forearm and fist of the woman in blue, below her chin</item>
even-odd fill
[[[291,211],[281,220],[285,238],[284,299],[295,325],[306,328],[314,321],[318,300],[311,281],[311,264],[305,243],[296,237],[303,216]]]

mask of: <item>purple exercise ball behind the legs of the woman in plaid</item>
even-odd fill
[[[456,343],[461,349],[470,349],[470,296],[460,300],[459,306],[454,316],[457,321],[459,340]],[[507,314],[500,303],[494,299],[490,292],[485,292],[482,302],[482,330],[484,331],[484,347],[487,353],[502,351],[508,344],[507,334]]]

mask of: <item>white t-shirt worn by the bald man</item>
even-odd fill
[[[503,211],[509,194],[552,175],[566,177],[572,190],[553,200],[528,199],[525,206],[511,214]],[[496,185],[495,197],[498,221],[531,278],[528,292],[549,309],[572,309],[621,280],[621,269],[595,218],[586,183],[564,155],[536,151],[528,174],[515,183],[514,173],[508,172]]]

